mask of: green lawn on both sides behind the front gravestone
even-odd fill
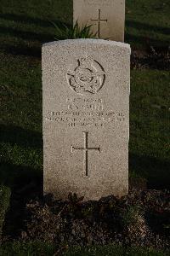
[[[71,13],[70,0],[0,0],[0,184],[10,189],[42,178],[41,45],[54,40],[50,21],[71,25]],[[169,44],[169,0],[127,0],[126,13],[133,48]],[[163,70],[131,73],[129,170],[150,188],[170,184],[169,81]]]

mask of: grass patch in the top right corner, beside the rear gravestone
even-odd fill
[[[169,0],[127,0],[125,40],[134,48],[170,44]]]

